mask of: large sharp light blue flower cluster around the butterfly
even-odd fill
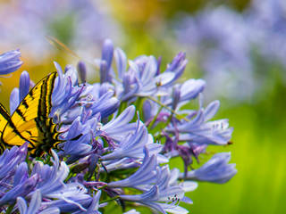
[[[161,70],[155,56],[128,61],[122,49],[105,40],[97,62],[100,83],[94,84],[86,82],[84,62],[64,71],[55,62],[50,117],[59,124],[63,143],[37,159],[26,158],[28,143],[5,150],[0,156],[2,211],[100,213],[121,206],[126,213],[139,213],[136,206],[142,205],[188,213],[181,202],[192,203],[185,193],[196,189],[197,181],[223,184],[236,174],[227,152],[193,168],[210,144],[228,144],[232,128],[227,119],[211,120],[220,103],[204,107],[203,79],[177,81],[187,65],[184,53]],[[11,113],[30,82],[29,73],[22,72]],[[196,98],[198,109],[190,110],[188,103]],[[170,169],[174,157],[181,157],[184,166]]]

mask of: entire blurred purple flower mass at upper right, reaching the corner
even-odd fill
[[[247,100],[272,89],[269,65],[286,68],[284,1],[252,0],[248,5],[243,12],[208,6],[175,22],[177,41],[205,72],[208,95]]]

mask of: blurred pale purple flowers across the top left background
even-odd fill
[[[58,4],[56,0],[41,3],[28,0],[0,5],[0,46],[18,46],[34,60],[40,61],[55,53],[56,48],[49,43],[50,37],[83,57],[97,52],[96,46],[105,37],[122,39],[120,25],[112,17],[108,5],[102,2],[63,0]]]

